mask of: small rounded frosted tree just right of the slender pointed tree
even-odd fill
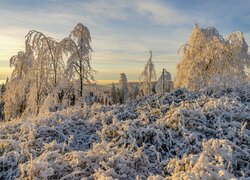
[[[156,93],[162,94],[172,89],[171,74],[166,69],[162,70],[161,76],[156,84]]]

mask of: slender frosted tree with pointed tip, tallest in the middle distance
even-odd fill
[[[144,95],[152,94],[152,80],[156,79],[155,66],[152,61],[152,51],[150,50],[149,53],[150,53],[149,59],[140,76],[140,78],[143,80]]]

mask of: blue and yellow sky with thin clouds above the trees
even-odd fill
[[[250,43],[248,0],[0,0],[0,80],[10,74],[8,60],[24,50],[31,29],[60,40],[81,22],[92,36],[97,80],[118,80],[124,72],[137,80],[153,51],[157,74],[175,75],[194,23],[215,26],[226,36],[242,31]]]

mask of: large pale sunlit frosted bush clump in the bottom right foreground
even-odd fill
[[[237,146],[228,140],[210,139],[202,143],[202,152],[197,155],[172,159],[167,171],[174,179],[231,179],[235,178],[233,162],[235,153],[241,153]],[[244,152],[243,152],[244,155]]]

